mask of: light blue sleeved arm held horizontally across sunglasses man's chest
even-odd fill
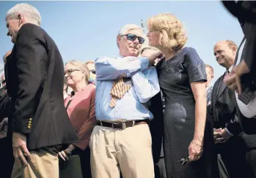
[[[148,58],[97,58],[95,60],[96,80],[115,80],[118,77],[131,77],[131,73],[145,69]]]

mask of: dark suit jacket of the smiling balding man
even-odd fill
[[[209,114],[213,128],[227,128],[230,133],[238,134],[241,132],[241,126],[235,120],[235,95],[233,90],[222,82],[223,78],[224,74],[213,85]]]

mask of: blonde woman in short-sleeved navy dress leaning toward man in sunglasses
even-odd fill
[[[175,15],[147,21],[150,46],[165,56],[158,63],[158,80],[166,99],[164,157],[168,178],[219,177],[213,130],[206,122],[205,63],[192,47]],[[205,125],[206,123],[206,125]]]

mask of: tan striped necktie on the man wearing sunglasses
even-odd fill
[[[122,77],[114,81],[113,86],[111,88],[111,100],[109,106],[111,108],[116,106],[117,99],[122,98],[122,96],[127,93],[127,91],[131,88],[131,84],[125,84]]]

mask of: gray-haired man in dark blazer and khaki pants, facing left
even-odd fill
[[[12,177],[57,178],[57,145],[78,141],[64,106],[62,56],[40,28],[40,13],[29,4],[12,7],[6,23],[14,43],[12,60],[6,64],[15,157]]]

